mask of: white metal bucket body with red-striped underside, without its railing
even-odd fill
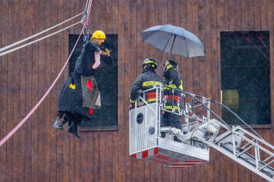
[[[187,168],[209,161],[209,149],[160,138],[160,105],[152,103],[129,112],[129,155]]]

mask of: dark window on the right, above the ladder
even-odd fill
[[[250,125],[271,123],[269,31],[221,32],[222,102]],[[239,124],[222,109],[229,124]]]

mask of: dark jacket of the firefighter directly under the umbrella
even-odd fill
[[[176,88],[178,90],[183,90],[183,83],[182,79],[175,70],[175,68],[172,66],[172,64],[169,64],[164,68],[164,85],[169,86],[171,88]],[[172,109],[175,110],[179,109],[179,102],[180,102],[180,96],[181,92],[174,91],[174,98],[172,101],[172,90],[171,88],[164,88],[164,96],[166,97],[166,101],[164,103],[165,109]],[[173,107],[172,107],[173,105]]]

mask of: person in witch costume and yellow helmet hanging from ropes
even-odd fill
[[[77,58],[75,69],[64,83],[58,97],[58,116],[53,127],[63,129],[69,122],[68,131],[80,138],[78,128],[82,118],[93,114],[93,109],[101,107],[100,92],[93,77],[101,64],[100,55],[110,56],[108,49],[100,49],[105,42],[105,33],[97,30],[90,41],[84,44],[81,55]]]

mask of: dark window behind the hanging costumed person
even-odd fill
[[[69,35],[69,53],[79,35]],[[118,36],[110,34],[107,36],[108,44],[105,48],[110,49],[113,58],[113,64],[100,65],[99,71],[95,71],[95,79],[101,94],[101,108],[95,109],[92,119],[82,120],[82,128],[86,129],[114,129],[118,125]],[[83,48],[82,38],[80,38],[73,55],[69,61],[69,74],[75,68],[75,62]],[[109,59],[101,56],[101,59]],[[107,61],[107,60],[106,60]]]

